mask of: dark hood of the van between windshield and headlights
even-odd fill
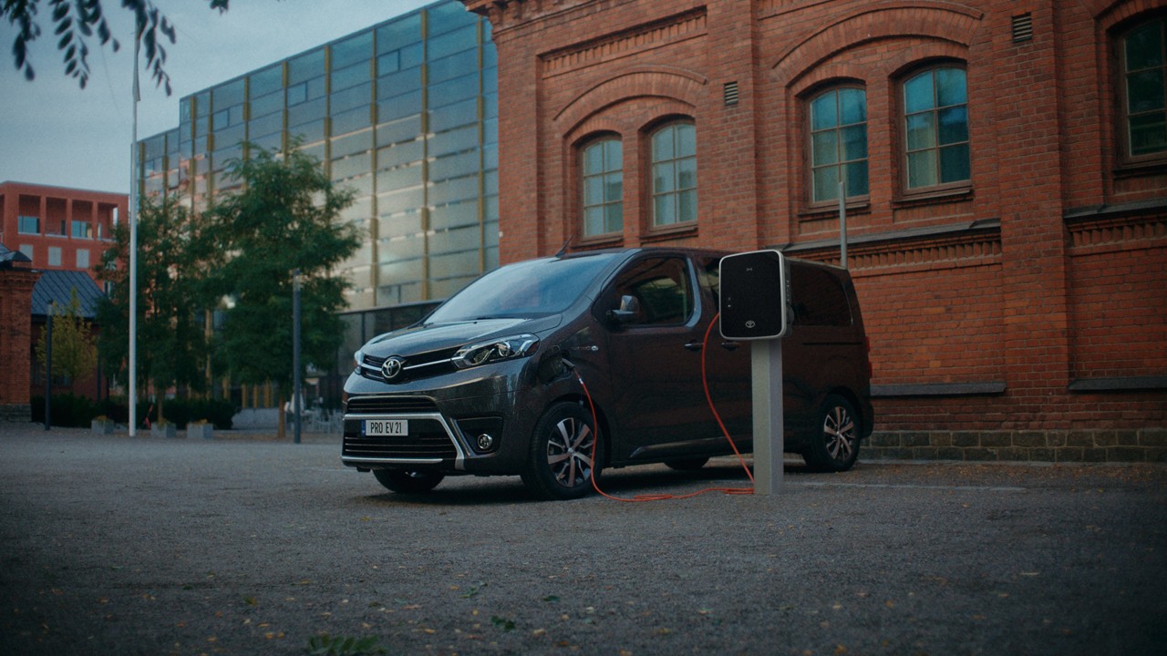
[[[467,344],[505,337],[522,333],[538,336],[559,326],[561,314],[551,316],[504,316],[483,317],[449,323],[420,323],[373,337],[362,351],[376,357],[391,355],[410,356],[443,349],[456,349]]]

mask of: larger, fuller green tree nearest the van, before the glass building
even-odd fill
[[[201,217],[209,291],[228,299],[217,351],[238,382],[278,386],[281,433],[293,377],[292,272],[301,280],[301,360],[328,367],[341,346],[348,286],[331,272],[359,245],[358,230],[341,219],[352,191],[334,187],[295,146],[286,154],[251,146],[247,159],[229,162],[242,190]]]

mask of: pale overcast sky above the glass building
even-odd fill
[[[207,0],[154,0],[177,30],[166,43],[172,95],[140,69],[138,138],[179,126],[179,100],[433,0],[232,0],[225,14]],[[12,58],[15,28],[0,21],[0,181],[130,193],[133,135],[133,14],[102,2],[121,49],[90,46],[84,90],[64,75],[48,4],[32,51],[36,79]]]

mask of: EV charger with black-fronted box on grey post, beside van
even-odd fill
[[[784,425],[782,337],[787,334],[787,261],[778,251],[721,258],[721,336],[750,340],[754,494],[782,491]]]

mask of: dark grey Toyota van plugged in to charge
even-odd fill
[[[356,353],[343,462],[394,491],[517,474],[544,498],[582,496],[605,468],[699,468],[732,453],[705,397],[703,360],[727,431],[750,451],[749,343],[710,329],[725,254],[587,251],[483,275]],[[846,470],[873,425],[854,286],[843,268],[788,261],[785,449]]]

